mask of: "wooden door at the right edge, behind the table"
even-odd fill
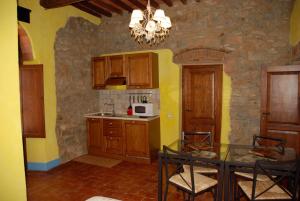
[[[262,70],[261,134],[287,140],[300,153],[300,66]]]

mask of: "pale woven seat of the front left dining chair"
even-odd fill
[[[190,172],[175,174],[169,179],[169,181],[175,185],[181,186],[189,191],[192,191]],[[199,193],[201,191],[207,190],[215,186],[218,183],[218,181],[210,177],[194,173],[194,183],[195,183],[195,193]]]

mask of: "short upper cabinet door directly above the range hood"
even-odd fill
[[[108,57],[108,77],[125,77],[124,55]]]

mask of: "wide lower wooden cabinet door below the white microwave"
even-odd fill
[[[126,156],[149,156],[148,124],[140,121],[125,121]]]

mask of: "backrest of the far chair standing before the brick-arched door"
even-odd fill
[[[210,131],[182,131],[181,139],[184,141],[194,141],[205,146],[212,146],[213,136]]]

